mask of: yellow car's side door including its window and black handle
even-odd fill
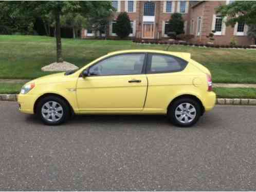
[[[144,106],[148,80],[144,73],[145,53],[107,57],[79,77],[77,101],[80,113],[132,112]]]

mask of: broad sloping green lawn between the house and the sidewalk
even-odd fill
[[[108,52],[125,49],[166,50],[167,45],[137,45],[129,40],[62,39],[64,60],[82,67]],[[213,82],[256,83],[256,50],[171,46],[188,52],[212,73]],[[52,37],[0,35],[0,78],[33,79],[49,73],[41,68],[56,60]]]

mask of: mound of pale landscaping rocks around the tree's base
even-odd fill
[[[78,67],[72,63],[63,61],[63,62],[53,62],[48,66],[43,67],[42,71],[71,71],[77,70]]]

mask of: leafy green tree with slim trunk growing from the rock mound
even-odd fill
[[[95,9],[113,9],[109,1],[7,1],[4,4],[15,15],[44,16],[52,14],[56,27],[57,62],[63,62],[61,46],[61,15],[80,13],[87,16]]]

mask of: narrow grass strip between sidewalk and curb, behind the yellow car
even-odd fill
[[[1,83],[0,94],[19,94],[24,83]],[[213,88],[217,98],[256,99],[254,88]]]

